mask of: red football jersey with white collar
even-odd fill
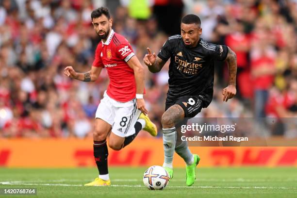
[[[120,102],[127,102],[136,96],[134,71],[127,62],[134,56],[127,39],[111,31],[105,43],[99,42],[93,66],[105,67],[110,79],[107,95]]]

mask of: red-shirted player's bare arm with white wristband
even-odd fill
[[[137,109],[139,109],[145,115],[148,114],[148,110],[146,109],[145,101],[143,99],[143,91],[144,91],[144,68],[139,62],[136,56],[132,56],[132,58],[127,62],[128,66],[130,66],[134,71],[135,82],[136,82],[136,103]]]

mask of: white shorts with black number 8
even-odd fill
[[[112,126],[112,132],[120,137],[135,133],[134,125],[141,111],[137,109],[136,99],[119,102],[110,98],[106,91],[101,99],[96,118],[100,118]]]

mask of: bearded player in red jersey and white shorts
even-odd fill
[[[135,56],[127,39],[112,29],[113,19],[107,8],[100,7],[91,14],[94,30],[101,38],[91,70],[76,72],[72,66],[64,74],[70,78],[94,82],[103,68],[107,69],[110,83],[96,112],[94,157],[99,177],[88,186],[107,186],[110,179],[107,167],[108,146],[120,150],[132,142],[141,129],[157,135],[156,126],[149,120],[143,99],[144,68]]]

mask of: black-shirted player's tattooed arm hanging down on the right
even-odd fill
[[[226,61],[229,69],[229,85],[223,89],[224,101],[228,101],[236,94],[236,72],[237,72],[237,57],[234,51],[228,47]]]

